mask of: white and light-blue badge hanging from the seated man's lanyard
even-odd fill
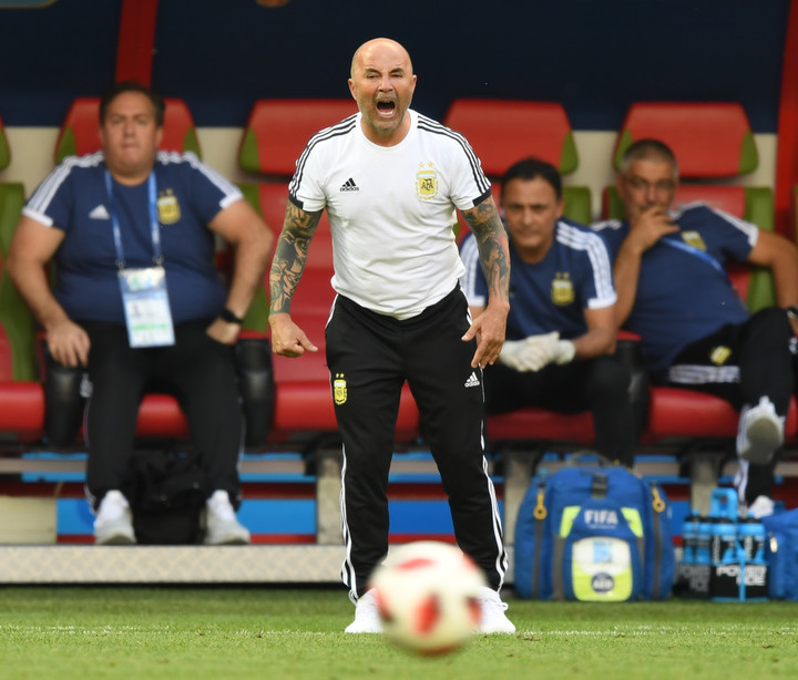
[[[120,289],[130,346],[174,344],[174,324],[163,267],[120,269]]]

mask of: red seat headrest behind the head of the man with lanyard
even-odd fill
[[[185,102],[165,99],[162,151],[192,151],[202,157],[194,119]],[[65,156],[100,151],[100,97],[84,96],[72,102],[55,143],[55,163]]]

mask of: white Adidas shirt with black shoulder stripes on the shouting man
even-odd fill
[[[369,142],[359,113],[314,135],[288,189],[308,213],[327,208],[332,288],[397,319],[419,315],[454,289],[464,272],[454,208],[470,209],[490,195],[462,135],[407,114],[410,131],[395,146]]]

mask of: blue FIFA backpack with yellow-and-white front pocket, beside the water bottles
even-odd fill
[[[671,509],[625,467],[563,467],[532,480],[515,525],[523,598],[664,599],[674,579]]]

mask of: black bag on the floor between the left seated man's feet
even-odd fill
[[[176,451],[140,452],[132,461],[131,509],[142,545],[202,543],[202,511],[208,495],[197,456]]]

